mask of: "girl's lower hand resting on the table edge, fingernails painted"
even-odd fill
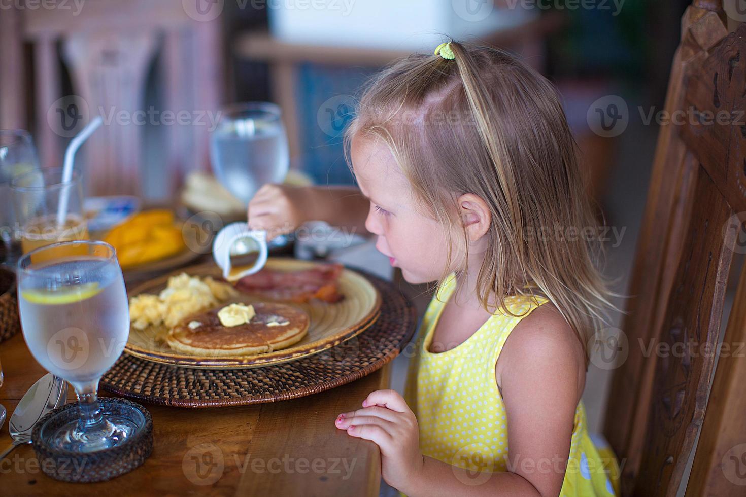
[[[421,474],[417,419],[395,390],[371,392],[363,409],[339,414],[335,424],[353,437],[377,443],[383,480],[395,489],[411,487]]]

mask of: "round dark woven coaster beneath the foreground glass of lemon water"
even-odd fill
[[[140,411],[142,428],[122,445],[96,452],[71,452],[56,449],[42,442],[44,436],[60,426],[78,419],[78,402],[63,405],[43,417],[31,433],[34,452],[46,475],[56,480],[76,483],[107,481],[131,472],[145,462],[153,449],[153,419],[140,404],[125,399],[104,397],[98,399],[101,412],[109,416],[124,416],[131,419],[134,411]],[[138,416],[139,417],[139,416]]]

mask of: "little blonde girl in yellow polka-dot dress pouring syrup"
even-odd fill
[[[495,48],[448,42],[380,73],[345,135],[351,189],[265,186],[254,228],[365,228],[410,283],[438,282],[406,395],[336,427],[380,446],[409,496],[609,496],[586,431],[589,346],[615,308],[554,86]]]

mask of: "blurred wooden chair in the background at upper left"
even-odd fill
[[[163,197],[209,167],[208,126],[193,124],[225,93],[219,19],[170,0],[46,5],[3,7],[1,127],[31,127],[41,164],[54,166],[75,130],[102,115],[81,158],[94,195]],[[189,125],[173,122],[180,112]]]

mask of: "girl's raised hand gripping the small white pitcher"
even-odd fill
[[[311,207],[312,187],[267,183],[248,203],[248,226],[266,229],[267,238],[293,232],[314,219]]]

